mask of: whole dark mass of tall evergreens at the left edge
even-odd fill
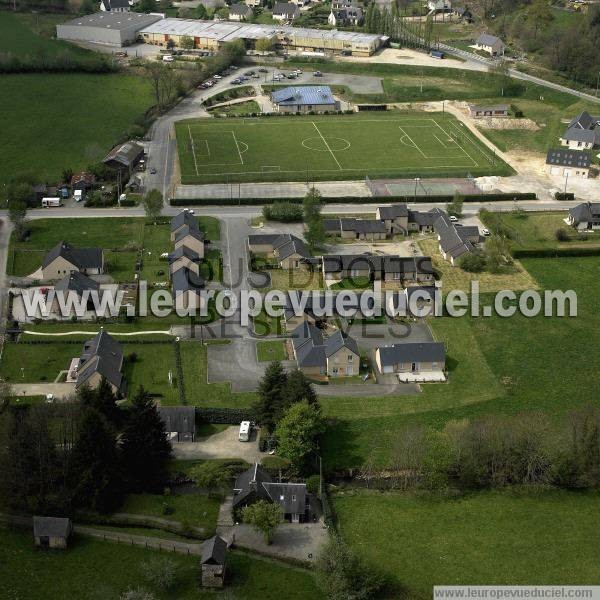
[[[16,510],[110,512],[125,493],[158,491],[167,479],[171,447],[143,388],[127,413],[103,381],[70,405],[11,409],[7,421],[0,491]]]

